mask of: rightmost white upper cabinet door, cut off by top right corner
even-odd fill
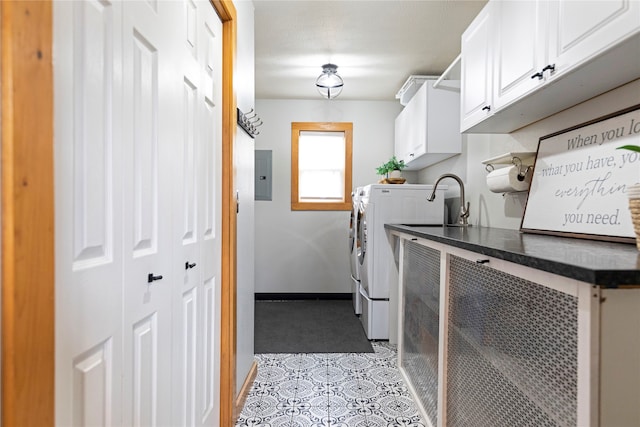
[[[640,2],[558,0],[550,3],[549,18],[549,62],[558,76],[637,34]]]

